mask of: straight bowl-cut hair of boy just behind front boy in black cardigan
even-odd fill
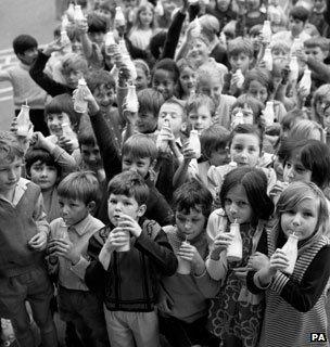
[[[155,141],[147,134],[136,133],[128,138],[123,145],[123,154],[134,158],[150,158],[151,162],[157,158]]]

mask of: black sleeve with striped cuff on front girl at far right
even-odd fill
[[[300,312],[309,311],[321,296],[330,275],[330,246],[322,247],[315,256],[301,283],[291,280],[287,274],[278,271],[270,290]]]

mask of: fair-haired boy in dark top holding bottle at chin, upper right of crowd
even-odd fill
[[[244,76],[252,67],[253,42],[248,38],[238,37],[228,42],[228,60],[231,70],[225,75],[224,94],[239,97],[244,82]]]

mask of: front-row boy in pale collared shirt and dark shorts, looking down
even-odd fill
[[[84,281],[89,239],[104,224],[93,218],[99,183],[90,172],[72,172],[58,188],[61,218],[50,223],[48,261],[58,268],[59,311],[73,322],[84,346],[107,346],[102,306]]]

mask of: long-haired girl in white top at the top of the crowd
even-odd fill
[[[132,46],[145,50],[155,30],[154,8],[144,2],[138,8],[137,16],[128,38]]]

